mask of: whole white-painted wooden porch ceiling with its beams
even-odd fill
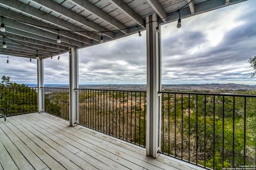
[[[1,54],[47,58],[84,48],[103,40],[125,37],[145,30],[146,16],[157,13],[162,24],[181,17],[215,10],[246,0],[0,0],[7,48]],[[171,15],[172,14],[172,15]],[[58,31],[61,43],[56,39]],[[64,31],[67,30],[67,31]],[[102,33],[101,33],[102,32]],[[3,38],[0,38],[3,43]],[[11,47],[11,48],[9,48]]]

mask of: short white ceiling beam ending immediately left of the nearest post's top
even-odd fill
[[[119,10],[121,10],[123,13],[128,15],[132,20],[137,22],[137,24],[142,25],[142,27],[145,28],[145,20],[143,20],[138,13],[134,12],[130,6],[125,4],[123,0],[109,0],[109,2],[119,8]]]

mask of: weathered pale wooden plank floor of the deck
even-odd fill
[[[48,114],[0,119],[0,169],[199,169]]]

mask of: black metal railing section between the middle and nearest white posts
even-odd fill
[[[78,124],[146,146],[146,91],[77,89]]]

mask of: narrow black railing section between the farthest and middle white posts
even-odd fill
[[[45,112],[69,120],[69,89],[44,87]]]

